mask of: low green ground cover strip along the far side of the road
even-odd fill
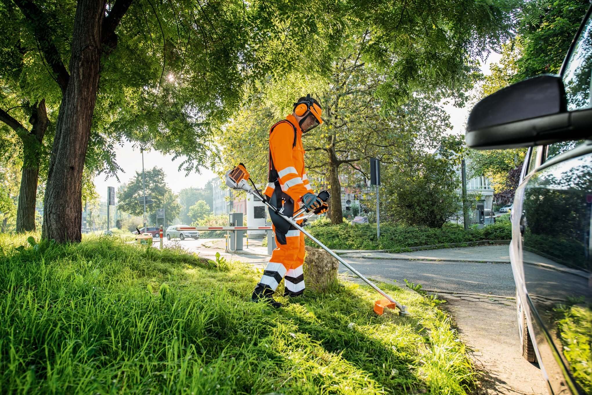
[[[376,224],[344,222],[332,225],[329,221],[316,220],[308,229],[311,235],[331,249],[387,249],[399,252],[410,247],[511,239],[510,221],[501,221],[482,229],[470,227],[468,230],[450,223],[441,228],[386,223],[380,226],[379,240],[376,235]],[[310,239],[306,239],[305,242],[307,245],[315,246]]]

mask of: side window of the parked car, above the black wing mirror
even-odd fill
[[[590,107],[590,70],[592,70],[592,18],[584,25],[562,75],[567,110]]]

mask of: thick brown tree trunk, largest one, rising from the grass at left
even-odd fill
[[[63,91],[44,198],[43,238],[81,240],[82,171],[101,60],[102,0],[80,0],[72,34],[70,77]]]

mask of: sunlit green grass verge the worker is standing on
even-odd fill
[[[259,279],[116,237],[0,236],[0,388],[14,394],[465,394],[474,371],[442,311],[382,284],[251,303]],[[281,291],[281,290],[280,290]]]

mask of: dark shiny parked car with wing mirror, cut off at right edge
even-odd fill
[[[472,109],[466,144],[530,147],[511,210],[522,354],[551,394],[592,393],[592,18],[560,75],[508,86]]]

